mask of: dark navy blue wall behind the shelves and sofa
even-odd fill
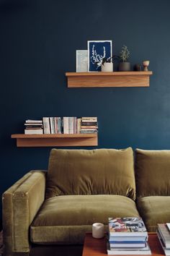
[[[1,193],[50,148],[17,148],[25,119],[98,116],[99,148],[170,148],[169,0],[0,0]],[[150,88],[66,87],[87,40],[123,44],[149,59]]]

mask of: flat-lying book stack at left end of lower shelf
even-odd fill
[[[42,120],[26,120],[24,123],[25,135],[42,135],[43,125]]]

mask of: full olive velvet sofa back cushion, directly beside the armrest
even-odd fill
[[[124,195],[135,200],[132,148],[51,150],[46,198],[58,195]]]

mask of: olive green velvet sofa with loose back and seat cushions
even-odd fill
[[[135,159],[135,161],[134,161]],[[91,224],[141,216],[148,231],[170,221],[170,151],[57,150],[3,195],[5,255],[32,244],[82,244]]]

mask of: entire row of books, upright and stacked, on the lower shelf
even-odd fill
[[[75,116],[43,117],[42,120],[26,120],[24,123],[24,134],[26,135],[55,135],[76,133],[97,133],[97,117]]]

